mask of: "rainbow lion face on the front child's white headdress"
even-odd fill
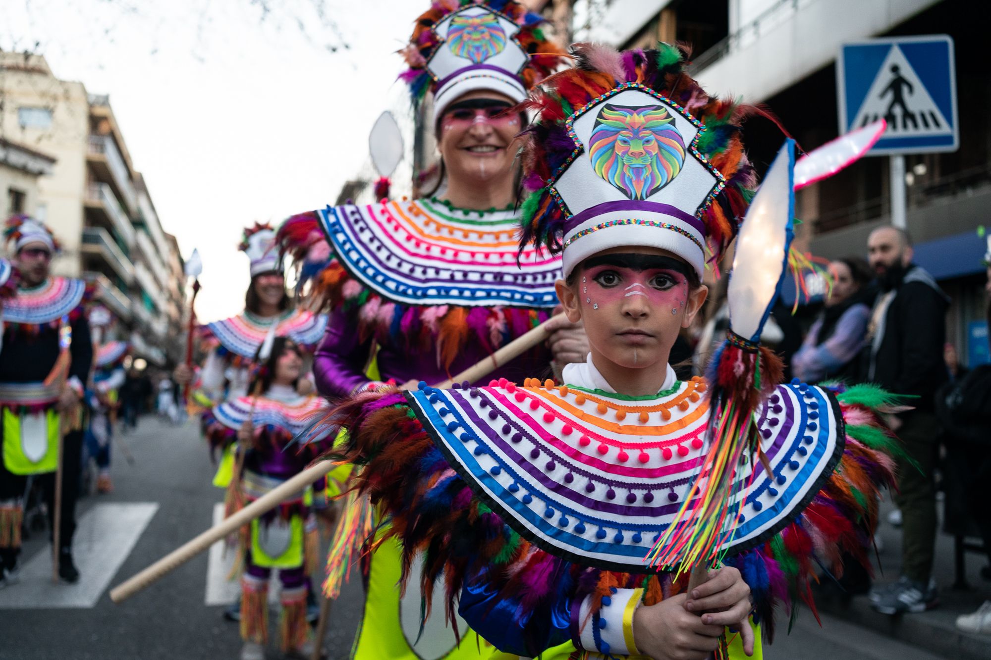
[[[630,199],[646,199],[685,164],[685,142],[674,117],[660,105],[606,104],[589,140],[596,173]]]

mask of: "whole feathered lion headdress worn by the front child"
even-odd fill
[[[580,44],[574,55],[575,68],[525,103],[538,114],[523,162],[522,245],[564,251],[565,275],[631,244],[671,250],[702,275],[753,194],[739,123],[755,109],[707,94],[667,44],[624,53]]]

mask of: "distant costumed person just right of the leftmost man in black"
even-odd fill
[[[113,490],[110,481],[110,442],[119,407],[118,390],[127,378],[124,359],[129,346],[126,341],[107,337],[112,325],[113,316],[106,307],[97,305],[89,310],[89,326],[93,336],[93,380],[86,390],[86,403],[89,405],[86,447],[98,470],[97,493]]]

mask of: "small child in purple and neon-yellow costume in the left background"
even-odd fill
[[[261,353],[268,350],[269,356]],[[271,347],[260,350],[256,361],[260,364],[252,385],[256,393],[231,398],[203,416],[206,436],[215,452],[235,442],[245,448],[236,478],[246,504],[296,475],[330,446],[319,435],[304,445],[293,442],[320,405],[315,394],[298,393],[299,380],[304,377],[304,356],[299,346],[288,337],[277,337]],[[242,530],[242,660],[265,658],[269,578],[273,569],[278,570],[282,587],[281,649],[307,660],[312,654],[313,639],[306,619],[308,576],[318,561],[312,511],[326,508],[325,490],[326,481],[320,480],[312,492],[303,491],[283,501]]]

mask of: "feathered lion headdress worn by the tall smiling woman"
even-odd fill
[[[561,65],[543,18],[513,0],[436,0],[416,19],[400,74],[414,105],[434,94],[434,116],[458,96],[491,89],[515,101]]]

